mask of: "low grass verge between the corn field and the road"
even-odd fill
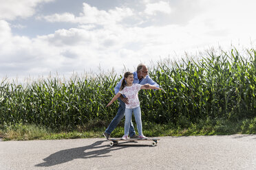
[[[89,122],[74,130],[50,130],[39,125],[4,125],[0,128],[0,137],[3,141],[48,140],[67,138],[100,138],[106,128],[106,123]],[[185,122],[185,123],[184,123]],[[121,137],[124,132],[123,122],[112,132],[112,137]],[[228,135],[228,134],[255,134],[256,117],[241,121],[227,121],[225,119],[206,119],[198,123],[183,121],[180,125],[143,123],[145,136],[195,136],[195,135]]]

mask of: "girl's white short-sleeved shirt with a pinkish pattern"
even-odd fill
[[[140,84],[132,84],[132,86],[125,86],[125,88],[118,92],[125,95],[129,100],[129,104],[125,104],[125,108],[137,108],[140,106],[138,91],[140,90],[141,86],[142,85]]]

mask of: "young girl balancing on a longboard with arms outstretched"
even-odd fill
[[[109,104],[107,104],[107,106],[111,105],[114,101],[116,101],[116,99],[118,99],[118,97],[120,97],[120,95],[125,95],[128,98],[129,104],[125,104],[125,135],[122,136],[123,140],[128,138],[132,112],[134,112],[139,138],[147,139],[147,137],[142,134],[140,101],[138,99],[138,91],[140,89],[162,90],[162,88],[151,86],[149,84],[145,84],[142,86],[140,84],[133,84],[133,82],[134,74],[129,71],[126,72],[124,79],[122,80],[122,85],[120,87],[119,92],[113,97],[113,99],[111,99]]]

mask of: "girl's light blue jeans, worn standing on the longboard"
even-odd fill
[[[134,112],[134,117],[138,129],[138,134],[142,135],[142,123],[141,123],[141,112],[140,106],[137,108],[125,108],[125,135],[129,134],[129,129],[131,125],[131,117]]]

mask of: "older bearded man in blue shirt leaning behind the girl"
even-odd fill
[[[123,77],[122,77],[122,79],[123,79]],[[118,91],[120,89],[120,86],[122,84],[122,79],[120,80],[120,82],[114,88],[116,94],[118,93]],[[153,86],[159,87],[159,85],[156,82],[154,82],[153,80],[151,80],[151,78],[149,77],[147,66],[145,66],[145,64],[139,64],[138,65],[137,71],[134,72],[134,82],[133,83],[134,84],[142,84],[142,85],[146,85],[146,86],[148,84],[151,84]],[[116,117],[114,117],[114,119],[111,121],[111,123],[107,127],[107,130],[105,130],[105,132],[103,134],[107,139],[110,138],[111,132],[113,132],[113,130],[118,125],[118,123],[125,116],[125,104],[129,103],[127,98],[123,95],[121,95],[118,98],[118,101],[120,103],[119,103],[118,112],[116,114]],[[131,122],[131,125],[130,125],[130,128],[129,128],[129,136],[130,136],[130,138],[138,138],[138,135],[136,135],[136,132],[134,130],[134,125],[133,125],[132,122]]]

